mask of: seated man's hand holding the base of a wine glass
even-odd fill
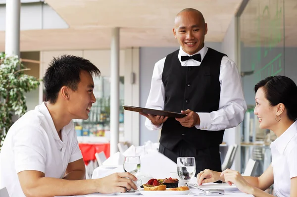
[[[133,183],[137,178],[128,172],[114,173],[101,179],[94,180],[97,183],[98,192],[103,194],[126,192],[126,190],[131,190],[131,188],[137,190],[136,185]]]

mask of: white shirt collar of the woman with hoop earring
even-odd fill
[[[282,154],[291,139],[297,134],[297,121],[295,121],[280,137],[271,143]]]

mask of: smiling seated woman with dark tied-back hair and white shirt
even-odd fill
[[[255,197],[271,197],[264,191],[274,184],[278,197],[297,197],[297,86],[285,76],[267,77],[255,85],[255,93],[259,127],[277,136],[270,145],[272,163],[260,177],[205,169],[197,175],[198,185],[221,180]]]

